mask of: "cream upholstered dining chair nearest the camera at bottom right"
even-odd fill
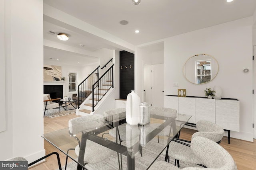
[[[191,149],[195,156],[210,170],[237,170],[232,156],[218,143],[205,137],[194,137],[191,141]],[[149,170],[180,170],[180,168],[165,162],[155,162]],[[182,170],[205,170],[204,167],[186,167]]]

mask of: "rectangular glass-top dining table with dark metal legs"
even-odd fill
[[[118,163],[115,164],[117,159],[119,163],[120,161],[122,162],[121,165],[124,169],[146,170],[159,157],[167,161],[168,144],[174,137],[178,137],[180,130],[191,117],[191,115],[167,111],[151,111],[150,124],[132,126],[126,123],[125,115],[126,113],[123,112],[103,117],[104,125],[91,129],[82,129],[77,134],[72,134],[70,131],[76,128],[81,129],[81,124],[41,136],[74,160],[77,164],[77,170],[82,170],[83,168],[99,169],[99,167],[102,169],[120,169]],[[94,124],[93,121],[87,122],[87,124]],[[110,135],[113,134],[113,131],[116,135]],[[119,155],[122,154],[122,159],[120,160],[119,156],[116,156],[118,154],[114,154],[111,158],[104,160],[105,162],[100,162],[100,165],[84,164],[87,140],[114,150]],[[80,144],[79,154],[76,154],[74,151],[68,152],[69,149],[76,148],[78,144]],[[110,162],[112,162],[112,165],[109,165]],[[96,166],[96,168],[93,166]]]

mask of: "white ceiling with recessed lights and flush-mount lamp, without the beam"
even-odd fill
[[[226,0],[141,0],[137,6],[132,0],[44,0],[44,3],[132,45],[246,18],[252,16],[256,9],[256,0],[229,3]],[[128,21],[128,24],[121,25],[121,20]],[[136,29],[140,32],[135,33]],[[70,39],[60,42],[48,31],[67,33]],[[88,51],[104,47],[118,49],[95,35],[82,35],[45,19],[44,39]],[[84,44],[84,47],[79,44]]]

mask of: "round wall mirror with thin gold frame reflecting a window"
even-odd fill
[[[184,76],[194,84],[204,84],[213,80],[218,74],[219,64],[216,59],[207,54],[197,54],[190,57],[184,64]]]

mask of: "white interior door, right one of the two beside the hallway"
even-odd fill
[[[164,107],[164,64],[151,66],[151,101],[154,107]]]

